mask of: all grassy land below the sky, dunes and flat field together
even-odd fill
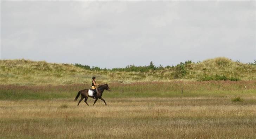
[[[215,58],[116,70],[0,60],[0,138],[256,138],[254,64]],[[76,106],[92,76],[111,88],[108,105]]]

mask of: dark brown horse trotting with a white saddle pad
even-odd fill
[[[110,88],[108,87],[108,84],[100,85],[97,89],[98,89],[98,93],[97,93],[96,96],[95,96],[95,101],[94,101],[93,105],[95,104],[95,102],[96,102],[98,99],[101,99],[102,101],[104,101],[105,105],[107,105],[106,102],[105,102],[105,100],[104,100],[101,96],[102,96],[104,90],[110,91]],[[80,94],[81,94],[81,99],[79,100],[77,106],[79,105],[79,103],[80,103],[84,98],[85,98],[84,102],[89,106],[89,104],[88,104],[86,101],[87,101],[88,97],[90,97],[90,98],[93,98],[93,97],[92,97],[92,96],[89,96],[89,94],[88,94],[88,89],[84,89],[84,90],[79,91],[78,94],[76,95],[76,98],[75,98],[74,101],[76,101],[76,100],[78,99],[78,97],[79,97]]]

